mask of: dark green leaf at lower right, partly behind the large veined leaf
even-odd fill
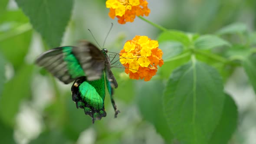
[[[219,124],[214,130],[209,144],[227,144],[236,130],[238,112],[235,101],[226,94],[222,115]]]

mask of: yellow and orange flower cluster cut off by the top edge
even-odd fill
[[[120,24],[133,22],[135,16],[148,16],[150,13],[146,0],[107,0],[106,7],[110,8],[108,15],[112,19],[116,16]]]

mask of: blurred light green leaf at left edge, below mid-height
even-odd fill
[[[20,102],[28,98],[33,65],[23,65],[16,75],[4,86],[0,97],[0,118],[3,122],[13,126],[15,116],[19,111]]]

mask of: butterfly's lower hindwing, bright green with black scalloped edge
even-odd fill
[[[106,116],[104,108],[105,80],[101,79],[88,81],[86,77],[75,80],[71,88],[72,100],[75,101],[76,108],[83,108],[85,115],[95,120],[100,120]]]

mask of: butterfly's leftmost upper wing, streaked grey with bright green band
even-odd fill
[[[72,49],[77,49],[77,47],[64,46],[50,49],[36,59],[36,64],[47,69],[60,81],[68,84],[78,77],[85,76],[79,61],[72,53]]]

